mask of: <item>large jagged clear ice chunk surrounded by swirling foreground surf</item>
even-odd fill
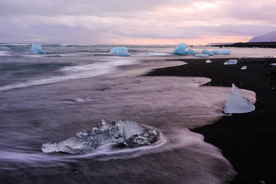
[[[155,141],[156,136],[157,132],[153,128],[144,132],[142,127],[131,120],[116,123],[102,120],[102,127],[96,125],[91,132],[82,129],[76,133],[76,137],[59,143],[42,144],[41,150],[43,152],[89,153],[108,143],[123,143],[127,147],[150,145]]]

